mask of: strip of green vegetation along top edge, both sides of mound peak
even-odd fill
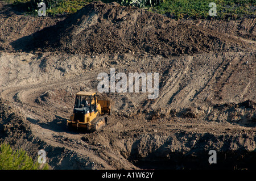
[[[36,3],[46,2],[47,15],[70,14],[80,10],[93,0],[5,0],[6,2],[18,5],[20,3],[28,3],[27,12],[36,14]],[[138,6],[146,8],[149,11],[159,14],[170,14],[175,18],[192,17],[207,18],[209,16],[209,3],[214,2],[217,5],[217,17],[227,18],[243,15],[256,15],[255,0],[102,0],[102,2],[118,2],[125,6]],[[32,2],[32,3],[29,3]]]

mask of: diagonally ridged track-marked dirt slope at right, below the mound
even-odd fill
[[[223,96],[223,92],[228,94],[229,82],[234,81],[230,78],[250,67],[243,65],[243,61],[248,60],[250,54],[250,52],[241,55],[240,53],[230,53],[230,55],[228,53],[200,54],[193,56],[192,61],[186,62],[187,57],[185,57],[185,63],[177,58],[166,69],[168,75],[164,75],[164,83],[160,87],[159,98],[152,107],[158,108],[163,104],[168,104],[170,108],[181,108],[199,100],[209,105],[222,102],[220,96]],[[179,66],[176,65],[178,61],[180,62]],[[254,64],[253,61],[250,62]],[[251,75],[253,69],[249,68],[247,74],[249,73]],[[246,81],[246,87],[253,87],[251,85],[253,81],[253,77],[249,77],[249,81]],[[246,87],[240,97],[246,94]]]

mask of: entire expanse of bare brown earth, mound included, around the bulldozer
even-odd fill
[[[24,15],[0,2],[0,142],[51,169],[256,169],[256,18],[181,19],[117,3]],[[108,125],[66,127],[99,73],[159,73],[159,96],[98,93]],[[217,164],[209,164],[209,150]]]

